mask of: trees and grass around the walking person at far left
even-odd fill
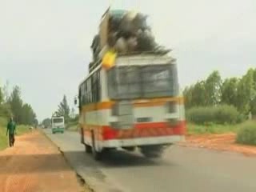
[[[12,116],[17,124],[17,134],[25,134],[30,131],[30,126],[37,126],[38,120],[30,104],[23,102],[21,98],[21,89],[14,86],[8,94],[8,83],[0,86],[0,150],[8,146],[8,137],[6,136],[6,125]]]

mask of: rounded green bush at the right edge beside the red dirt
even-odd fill
[[[256,122],[248,122],[238,131],[236,141],[256,146]]]

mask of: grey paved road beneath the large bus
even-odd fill
[[[174,146],[158,161],[116,151],[95,162],[84,152],[78,133],[46,134],[97,192],[256,191],[256,158]]]

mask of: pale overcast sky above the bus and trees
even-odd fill
[[[0,0],[0,83],[20,86],[39,120],[63,94],[74,107],[110,3],[150,16],[156,40],[177,58],[182,87],[213,70],[228,78],[256,67],[254,0]]]

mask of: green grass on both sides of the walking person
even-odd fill
[[[0,150],[6,149],[8,146],[8,137],[6,136],[6,118],[0,118]],[[26,134],[30,131],[30,126],[17,126],[17,135]]]

